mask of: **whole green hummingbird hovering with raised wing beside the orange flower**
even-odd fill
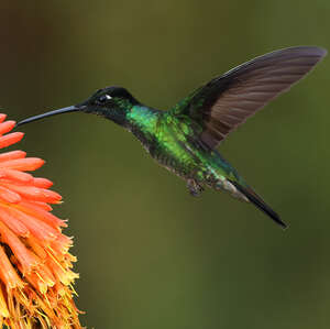
[[[125,88],[107,87],[84,102],[22,120],[18,125],[68,112],[105,117],[131,131],[156,162],[184,178],[193,196],[199,196],[205,186],[226,190],[286,228],[217,146],[249,117],[301,79],[326,54],[326,50],[316,46],[265,54],[213,78],[168,111],[141,103]]]

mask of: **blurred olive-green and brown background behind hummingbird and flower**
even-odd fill
[[[330,48],[330,2],[1,1],[0,103],[10,119],[125,86],[167,109],[256,55]],[[307,79],[220,151],[290,224],[185,183],[110,121],[70,113],[22,128],[69,218],[88,328],[330,326],[329,83]]]

